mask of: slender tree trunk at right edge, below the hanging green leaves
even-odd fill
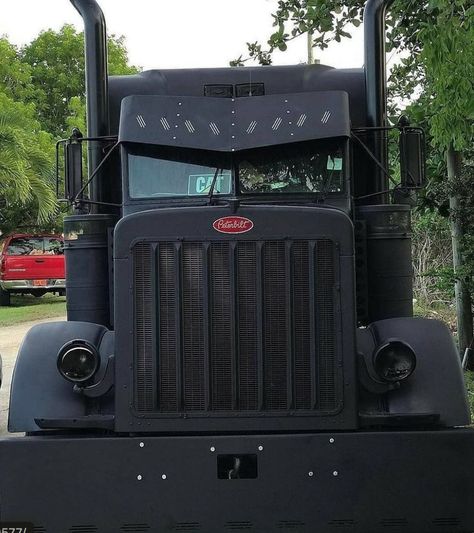
[[[456,152],[451,147],[446,155],[446,163],[448,166],[448,178],[450,182],[454,182],[458,176],[461,154]],[[453,245],[453,266],[454,274],[456,276],[455,298],[456,298],[456,316],[458,326],[458,346],[460,356],[462,358],[466,348],[471,347],[472,344],[472,307],[471,295],[464,279],[462,272],[458,275],[463,266],[463,256],[461,249],[461,240],[463,237],[462,221],[459,217],[459,197],[454,192],[449,198],[449,208],[451,212],[451,239]]]

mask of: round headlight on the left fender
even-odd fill
[[[97,372],[99,361],[99,354],[92,344],[75,340],[59,350],[58,370],[67,381],[84,383]]]

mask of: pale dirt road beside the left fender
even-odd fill
[[[0,328],[0,355],[3,360],[3,384],[0,389],[0,435],[7,431],[8,399],[10,396],[10,383],[13,367],[18,353],[18,348],[26,332],[35,324],[51,322],[52,320],[65,320],[64,317],[23,322],[15,326]]]

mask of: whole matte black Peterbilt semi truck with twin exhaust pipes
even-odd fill
[[[88,137],[60,145],[68,321],[21,346],[9,430],[25,436],[0,440],[0,520],[473,531],[459,356],[442,323],[412,316],[400,200],[424,161],[406,121],[389,186],[390,2],[367,4],[363,69],[108,78],[102,12],[71,1]]]

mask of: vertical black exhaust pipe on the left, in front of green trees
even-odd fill
[[[84,21],[87,135],[101,137],[109,134],[109,102],[107,78],[107,31],[104,14],[95,0],[70,0]],[[101,144],[95,141],[88,148],[89,176],[102,160]],[[106,183],[102,172],[92,180],[89,197],[93,202],[107,201]],[[92,204],[91,212],[101,207]]]

